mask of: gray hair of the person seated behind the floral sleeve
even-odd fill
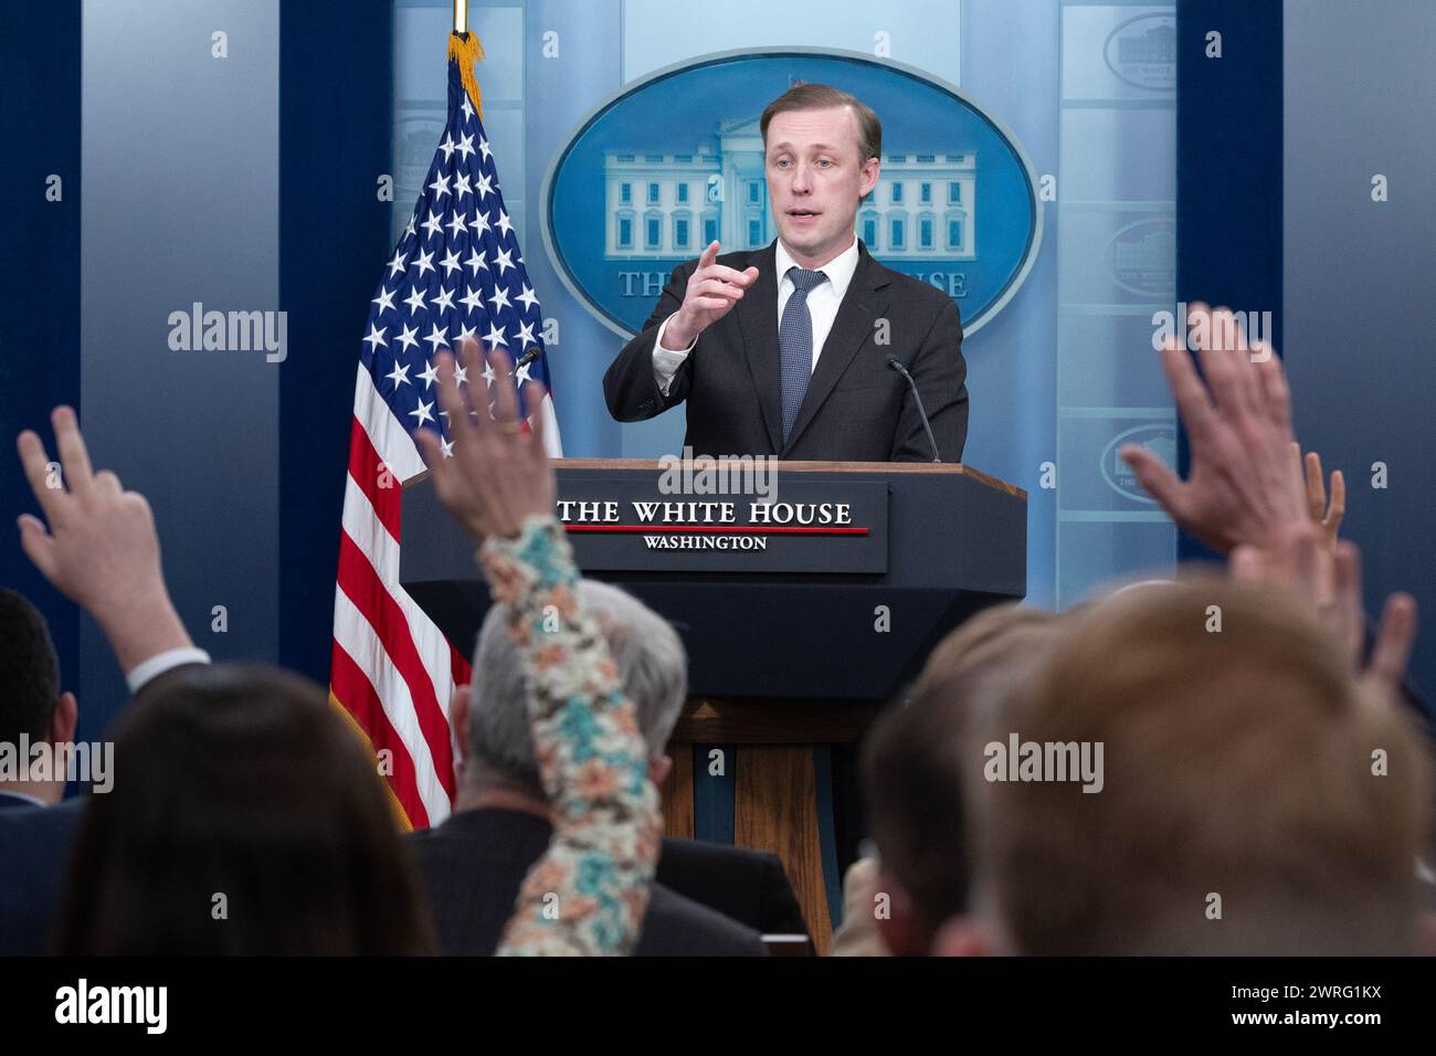
[[[688,654],[668,621],[638,598],[592,579],[579,580],[577,601],[599,624],[619,681],[638,708],[638,728],[649,759],[663,754],[688,695]],[[528,737],[524,670],[508,639],[508,611],[494,605],[474,647],[468,718],[470,754],[482,774],[543,787]]]

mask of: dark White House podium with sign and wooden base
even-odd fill
[[[943,635],[1025,595],[1027,493],[920,463],[777,463],[771,480],[724,491],[668,460],[554,468],[584,575],[640,598],[688,648],[669,833],[778,853],[826,953],[850,856],[836,815],[850,830],[859,809],[834,803],[834,747],[850,757],[841,746]],[[472,540],[422,480],[402,516],[401,582],[468,652],[488,609]]]

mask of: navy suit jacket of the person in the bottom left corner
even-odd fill
[[[0,957],[49,953],[88,802],[76,796],[33,806],[0,793]]]

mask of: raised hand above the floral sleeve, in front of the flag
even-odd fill
[[[553,516],[554,476],[543,447],[543,415],[534,414],[527,427],[518,421],[518,392],[503,352],[488,355],[494,372],[493,415],[487,399],[480,401],[475,412],[465,391],[472,394],[482,384],[477,379],[484,362],[472,342],[460,358],[470,378],[467,389],[460,389],[455,381],[454,356],[441,352],[434,361],[439,407],[448,415],[452,438],[449,454],[431,430],[415,430],[414,438],[434,476],[439,501],[464,529],[480,543],[488,536],[513,537],[530,514]],[[524,395],[527,405],[537,408],[543,385],[528,382]]]

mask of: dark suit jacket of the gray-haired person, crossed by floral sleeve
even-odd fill
[[[498,948],[524,874],[551,835],[549,823],[534,815],[464,810],[435,829],[405,836],[444,954],[488,957]],[[655,884],[633,953],[763,957],[765,950],[755,931]]]

